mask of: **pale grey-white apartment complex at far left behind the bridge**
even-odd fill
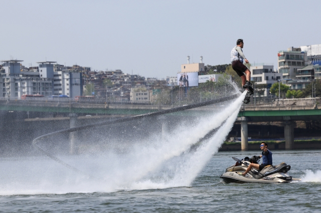
[[[23,94],[81,95],[82,75],[73,70],[54,72],[55,61],[38,62],[35,67],[22,67],[23,60],[2,60],[3,68],[0,76],[0,97],[20,99]],[[23,70],[23,71],[22,71]]]

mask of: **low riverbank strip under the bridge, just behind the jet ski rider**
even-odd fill
[[[249,141],[248,150],[259,150],[259,146],[262,142],[268,144],[268,148],[271,150],[283,150],[285,149],[284,140],[260,140]],[[321,149],[321,139],[310,140],[294,140],[293,149]],[[241,142],[224,142],[219,151],[240,151]]]

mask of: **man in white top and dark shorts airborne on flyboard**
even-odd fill
[[[242,87],[247,90],[246,96],[244,98],[244,103],[249,103],[251,97],[250,95],[253,94],[253,87],[252,83],[250,82],[251,71],[243,64],[243,59],[246,63],[249,62],[243,53],[243,45],[243,39],[237,39],[236,46],[231,51],[231,63],[232,68],[242,79]]]

